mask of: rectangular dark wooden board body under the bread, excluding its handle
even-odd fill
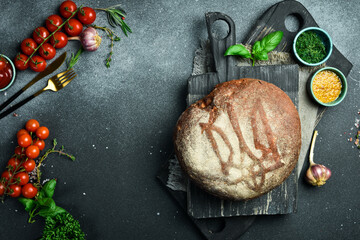
[[[236,67],[234,79],[257,78],[275,84],[298,106],[298,65]],[[229,79],[232,80],[232,79]],[[224,81],[223,81],[224,82]],[[219,83],[216,74],[191,77],[188,81],[188,104],[203,98]],[[297,169],[287,180],[266,195],[249,201],[226,201],[214,197],[193,183],[188,184],[187,207],[194,218],[229,217],[259,214],[286,214],[296,211]]]

